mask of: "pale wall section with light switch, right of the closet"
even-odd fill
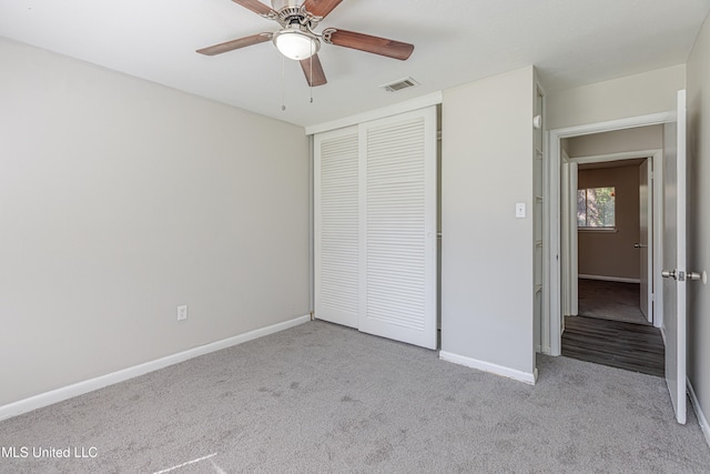
[[[442,350],[528,375],[534,98],[529,67],[446,90],[443,103]]]

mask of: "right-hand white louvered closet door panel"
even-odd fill
[[[363,332],[436,349],[436,109],[361,124]]]

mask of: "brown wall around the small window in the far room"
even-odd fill
[[[638,280],[639,167],[580,170],[579,189],[616,188],[616,232],[579,231],[579,274]]]

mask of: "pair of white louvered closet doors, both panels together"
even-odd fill
[[[436,108],[314,138],[315,316],[436,349]]]

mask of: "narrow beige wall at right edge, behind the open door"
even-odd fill
[[[689,270],[710,272],[710,19],[688,59]],[[688,284],[688,375],[710,417],[710,285]],[[710,425],[704,426],[710,443]]]

